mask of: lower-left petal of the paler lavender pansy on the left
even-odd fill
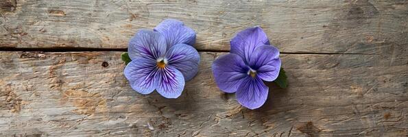
[[[126,65],[123,73],[136,92],[147,95],[153,92],[156,87],[156,82],[154,82],[156,71],[156,62],[154,60],[134,58],[132,62]]]

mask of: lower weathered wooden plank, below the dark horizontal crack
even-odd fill
[[[178,99],[140,95],[119,52],[0,52],[0,136],[407,136],[407,50],[283,54],[289,88],[259,110],[219,91],[211,63]],[[102,65],[104,64],[104,65]]]

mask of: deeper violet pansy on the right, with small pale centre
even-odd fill
[[[268,87],[279,74],[279,50],[269,44],[261,27],[250,27],[230,41],[231,50],[213,62],[217,86],[224,92],[237,92],[237,100],[246,108],[265,103]]]

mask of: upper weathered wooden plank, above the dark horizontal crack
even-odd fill
[[[254,25],[284,52],[379,54],[408,44],[404,0],[6,0],[0,9],[0,47],[126,48],[163,18],[195,29],[199,50],[228,51]]]

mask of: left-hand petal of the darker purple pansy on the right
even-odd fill
[[[242,58],[234,53],[222,55],[213,62],[213,74],[215,83],[224,92],[235,92],[241,79],[248,76],[248,66]]]

